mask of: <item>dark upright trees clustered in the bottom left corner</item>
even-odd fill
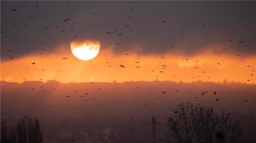
[[[20,118],[16,125],[1,121],[1,143],[42,143],[39,120]]]

